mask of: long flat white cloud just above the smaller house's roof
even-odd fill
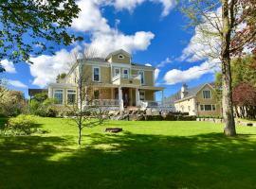
[[[170,85],[190,81],[205,74],[216,72],[219,69],[218,62],[218,60],[205,61],[201,65],[192,66],[188,70],[173,69],[165,74],[164,80],[166,84]]]

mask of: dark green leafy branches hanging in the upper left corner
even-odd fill
[[[75,0],[2,0],[0,60],[29,61],[31,55],[53,53],[48,42],[68,45],[82,40],[66,31],[79,11]]]

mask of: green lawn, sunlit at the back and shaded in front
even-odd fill
[[[0,124],[2,121],[0,121]],[[77,129],[40,118],[49,132],[0,138],[0,188],[255,188],[256,128],[227,138],[204,122],[109,122]],[[3,124],[3,123],[2,123]]]

